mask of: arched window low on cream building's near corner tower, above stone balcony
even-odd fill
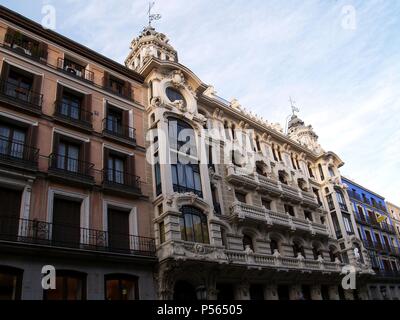
[[[207,216],[199,209],[184,206],[181,209],[180,225],[182,240],[210,243]]]

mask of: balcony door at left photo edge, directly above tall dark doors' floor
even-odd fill
[[[24,129],[0,124],[0,156],[23,159],[25,140]]]

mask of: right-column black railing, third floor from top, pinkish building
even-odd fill
[[[123,188],[126,190],[140,191],[140,177],[129,174],[125,171],[104,169],[103,170],[103,186],[111,188]]]

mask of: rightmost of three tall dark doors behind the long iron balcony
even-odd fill
[[[129,212],[108,208],[108,245],[114,251],[129,251]]]

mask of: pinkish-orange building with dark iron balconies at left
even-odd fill
[[[0,64],[0,300],[154,299],[143,78],[4,7]]]

